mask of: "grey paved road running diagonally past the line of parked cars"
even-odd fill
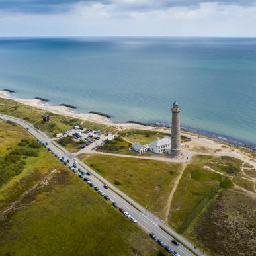
[[[124,194],[124,192],[114,187],[114,185],[112,185],[106,179],[101,177],[101,175],[93,171],[93,169],[91,169],[89,166],[85,165],[85,163],[79,161],[79,159],[75,158],[75,155],[69,153],[66,149],[56,144],[56,142],[52,141],[48,136],[46,136],[46,134],[39,130],[36,130],[36,128],[34,128],[32,124],[28,124],[23,120],[19,120],[18,118],[14,118],[11,116],[5,116],[3,114],[0,114],[0,118],[15,122],[24,128],[29,128],[28,132],[30,132],[30,134],[32,134],[38,140],[48,142],[48,147],[51,148],[52,151],[54,151],[58,155],[65,156],[67,159],[73,159],[73,161],[77,161],[79,163],[77,167],[80,167],[87,171],[91,171],[93,175],[91,175],[89,178],[91,179],[93,184],[99,188],[102,188],[105,194],[107,194],[112,201],[116,202],[118,206],[124,208],[124,210],[128,211],[132,216],[134,216],[138,220],[138,224],[144,230],[146,230],[146,232],[153,232],[155,235],[157,235],[157,237],[159,237],[159,239],[161,239],[165,244],[169,245],[172,249],[177,251],[177,253],[179,253],[180,255],[202,255],[202,252],[199,251],[198,249],[194,249],[194,245],[187,241],[187,239],[177,234],[173,229],[169,228],[169,226],[165,225],[161,220],[159,220],[157,216],[151,214],[151,212],[148,212],[145,208],[140,206],[140,204],[134,202],[132,198],[130,198],[129,196]],[[107,184],[109,189],[103,189],[104,184]],[[124,216],[124,218],[126,217]],[[169,234],[159,226],[164,228],[164,230],[167,230]],[[178,239],[182,244],[180,244],[179,246],[173,245],[171,243],[171,239],[173,239],[173,237],[175,237],[175,239]]]

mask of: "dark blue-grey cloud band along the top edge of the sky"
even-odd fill
[[[100,4],[116,11],[147,12],[173,7],[198,8],[203,3],[251,6],[252,0],[0,0],[1,13],[66,13],[77,5]]]

